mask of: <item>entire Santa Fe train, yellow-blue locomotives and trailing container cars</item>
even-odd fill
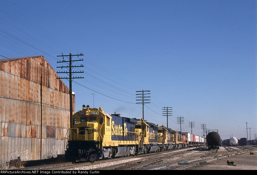
[[[65,149],[68,160],[94,161],[199,146],[205,142],[204,138],[195,135],[188,140],[190,133],[157,126],[143,119],[109,115],[102,107],[82,107],[70,123]]]

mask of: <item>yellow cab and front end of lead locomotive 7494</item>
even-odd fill
[[[72,116],[69,140],[65,157],[69,160],[93,161],[101,158],[101,148],[104,135],[104,125],[109,119],[103,113],[102,107],[83,108]]]

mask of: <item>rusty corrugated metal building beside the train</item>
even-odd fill
[[[0,167],[64,154],[69,89],[57,77],[43,56],[0,59]]]

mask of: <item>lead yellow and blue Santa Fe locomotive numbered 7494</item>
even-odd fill
[[[134,155],[138,150],[135,139],[137,120],[106,114],[102,107],[83,108],[72,116],[65,157],[69,160],[94,161]],[[86,107],[86,108],[85,108]]]

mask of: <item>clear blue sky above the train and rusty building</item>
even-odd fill
[[[168,106],[174,130],[181,116],[199,136],[203,123],[222,139],[246,137],[246,121],[257,133],[256,0],[0,0],[0,58],[43,55],[59,71],[62,53],[84,54],[76,111],[142,118],[135,91],[150,90],[149,122],[166,126]]]

